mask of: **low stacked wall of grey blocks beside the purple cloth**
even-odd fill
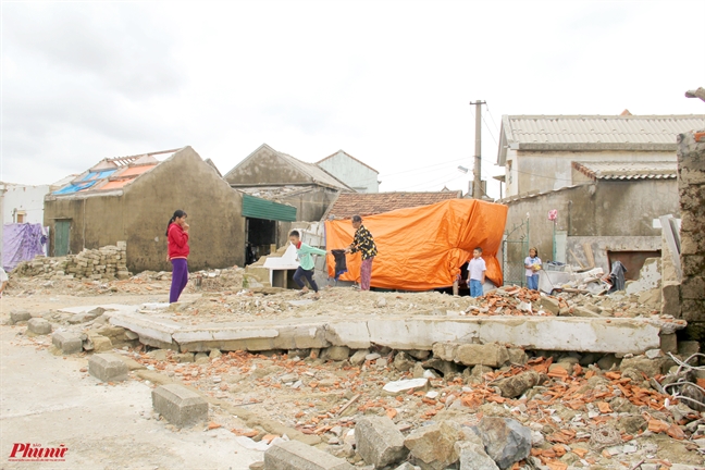
[[[118,242],[98,249],[84,249],[78,255],[47,258],[36,257],[17,264],[13,275],[46,280],[88,279],[110,281],[129,277],[127,271],[127,242]]]

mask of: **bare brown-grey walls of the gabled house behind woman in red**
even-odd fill
[[[171,269],[166,223],[182,209],[191,227],[189,270],[196,271],[244,263],[242,207],[242,194],[186,147],[122,191],[47,196],[45,224],[53,232],[57,220],[72,221],[71,252],[126,240],[131,271],[160,271]]]

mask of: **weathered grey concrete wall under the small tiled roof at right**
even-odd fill
[[[678,187],[670,180],[597,181],[505,202],[509,207],[507,227],[521,224],[529,214],[530,246],[542,260],[553,258],[553,222],[548,211],[558,211],[556,230],[567,236],[556,260],[578,265],[588,263],[582,245],[592,247],[595,264],[609,270],[608,251],[660,250],[660,228],[653,220],[678,214]],[[521,264],[515,253],[510,263]]]

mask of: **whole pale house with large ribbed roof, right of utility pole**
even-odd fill
[[[605,272],[621,261],[635,279],[660,255],[658,218],[679,212],[676,136],[703,126],[703,115],[503,116],[506,282],[525,282],[530,246]]]

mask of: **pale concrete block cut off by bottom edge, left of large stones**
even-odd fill
[[[352,470],[350,463],[298,441],[272,444],[264,453],[267,470]]]

